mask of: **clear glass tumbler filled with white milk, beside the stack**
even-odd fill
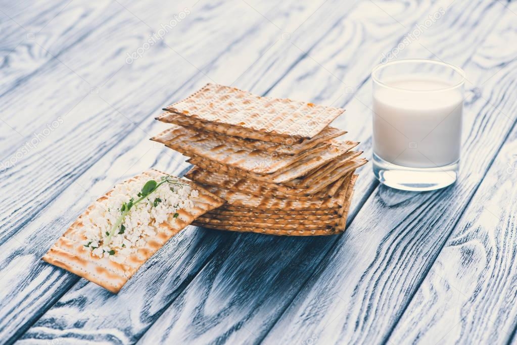
[[[458,177],[465,72],[445,62],[379,65],[373,80],[373,171],[390,187],[431,191]]]

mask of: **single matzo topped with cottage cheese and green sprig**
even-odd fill
[[[144,171],[90,205],[42,260],[117,293],[176,233],[223,203],[191,181]]]

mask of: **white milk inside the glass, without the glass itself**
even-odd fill
[[[400,76],[373,91],[373,151],[405,167],[436,168],[460,159],[463,97],[432,76]]]

